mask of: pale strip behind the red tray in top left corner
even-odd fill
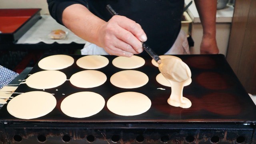
[[[49,14],[46,0],[0,0],[0,8],[41,8],[41,14]]]

